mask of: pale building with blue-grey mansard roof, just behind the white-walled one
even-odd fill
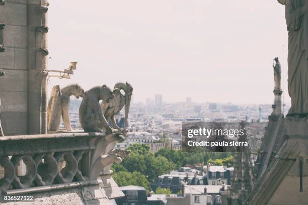
[[[209,185],[230,185],[233,171],[233,167],[210,165],[207,167],[207,182]]]

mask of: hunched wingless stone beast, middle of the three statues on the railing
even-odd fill
[[[113,97],[112,90],[106,85],[96,86],[85,92],[79,108],[79,120],[85,132],[105,131],[110,134],[115,131],[107,123],[99,103],[100,100],[108,103]]]

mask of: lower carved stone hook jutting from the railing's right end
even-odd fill
[[[129,157],[129,154],[130,154],[130,153],[131,153],[130,150],[125,150],[125,149],[114,149],[114,150],[111,150],[111,151],[109,152],[109,154],[103,155],[103,156],[102,156],[102,160],[105,161],[105,159],[107,159],[108,156],[111,156],[110,159],[112,159],[112,158],[113,158],[112,156],[118,155],[118,156],[120,156],[120,159],[121,159],[121,161],[122,161],[122,159],[125,159],[125,158]],[[103,174],[112,174],[113,171],[110,170],[110,168],[111,168],[111,166],[113,165],[113,163],[116,163],[116,164],[121,163],[121,161],[119,161],[118,158],[115,158],[114,160],[115,160],[115,161],[106,160],[105,163],[106,163],[107,165],[104,167]],[[109,163],[109,164],[108,164],[108,163]]]

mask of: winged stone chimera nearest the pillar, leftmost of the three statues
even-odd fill
[[[47,108],[48,131],[57,131],[60,127],[60,118],[66,131],[70,132],[70,120],[68,115],[70,96],[83,97],[85,90],[79,84],[71,84],[60,90],[59,85],[52,88],[51,97]]]

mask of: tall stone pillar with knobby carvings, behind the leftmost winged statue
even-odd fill
[[[47,133],[47,6],[46,0],[28,1],[29,134]]]

